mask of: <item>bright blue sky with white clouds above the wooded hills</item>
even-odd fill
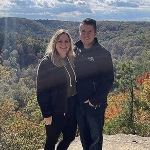
[[[0,17],[150,22],[150,0],[1,0]]]

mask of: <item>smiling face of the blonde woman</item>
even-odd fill
[[[56,50],[62,58],[66,56],[67,52],[70,49],[70,46],[71,43],[68,35],[65,33],[61,34],[56,42]]]

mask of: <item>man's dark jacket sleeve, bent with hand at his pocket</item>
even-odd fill
[[[99,61],[100,78],[96,83],[96,93],[90,98],[93,105],[99,105],[107,101],[107,96],[114,81],[113,63],[110,53]]]

